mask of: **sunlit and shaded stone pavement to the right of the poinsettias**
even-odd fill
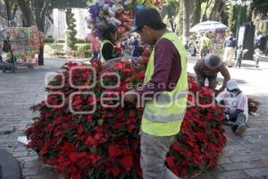
[[[188,72],[194,72],[192,69],[196,60],[189,59]],[[254,64],[245,60],[240,69],[229,68],[229,71],[231,79],[239,82],[241,90],[262,103],[258,110],[260,116],[249,116],[249,128],[240,137],[225,126],[228,143],[219,165],[196,179],[268,178],[268,83],[265,82],[268,59],[263,58],[258,69]]]

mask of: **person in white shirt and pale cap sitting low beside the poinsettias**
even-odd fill
[[[232,122],[231,130],[238,135],[244,132],[248,118],[247,96],[239,89],[238,82],[228,81],[216,101],[224,105],[226,120]]]

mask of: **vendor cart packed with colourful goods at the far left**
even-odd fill
[[[3,57],[0,63],[2,72],[15,72],[19,66],[32,69],[38,64],[35,55],[38,54],[40,40],[36,28],[6,28],[0,33]]]

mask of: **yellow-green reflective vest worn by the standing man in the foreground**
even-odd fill
[[[167,32],[162,38],[172,41],[180,53],[181,73],[176,87],[172,91],[163,91],[154,100],[146,102],[141,129],[155,136],[171,136],[180,132],[180,124],[187,108],[188,74],[187,56],[182,41],[173,32]],[[160,38],[161,39],[161,38]],[[144,84],[151,80],[155,69],[155,49],[150,55]],[[178,62],[179,63],[179,62]]]

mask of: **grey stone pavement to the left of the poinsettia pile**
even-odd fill
[[[0,149],[6,149],[21,162],[23,179],[56,179],[53,168],[42,166],[35,151],[17,141],[32,123],[29,107],[45,99],[46,72],[55,72],[63,59],[46,59],[45,66],[21,68],[15,73],[0,72]],[[11,178],[12,179],[12,178]]]

